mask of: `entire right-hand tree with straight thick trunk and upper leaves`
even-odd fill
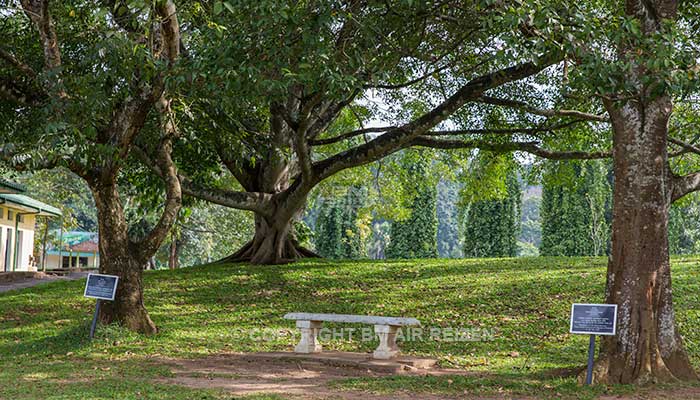
[[[607,45],[616,56],[584,49],[582,60],[603,77],[596,95],[613,131],[614,195],[612,256],[607,302],[617,304],[618,334],[606,337],[596,375],[611,383],[697,379],[678,332],[671,290],[668,220],[671,203],[700,189],[700,172],[680,175],[692,162],[669,163],[695,153],[680,109],[697,93],[697,9],[676,0],[627,0],[613,14],[616,32]],[[617,5],[612,12],[621,10]],[[617,17],[617,19],[615,19]],[[674,124],[670,136],[669,125]],[[692,124],[690,125],[692,126]],[[690,139],[692,140],[692,139]],[[685,154],[684,154],[685,153]],[[695,163],[695,165],[697,165]]]

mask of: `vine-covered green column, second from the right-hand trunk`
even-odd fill
[[[464,213],[465,257],[514,257],[520,232],[520,183],[515,171],[504,179],[506,196],[477,200]]]

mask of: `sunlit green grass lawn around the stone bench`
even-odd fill
[[[147,272],[146,306],[160,333],[100,327],[87,340],[94,302],[84,280],[0,295],[1,399],[220,399],[216,390],[154,383],[170,372],[158,357],[293,348],[291,311],[417,317],[426,327],[485,329],[492,340],[422,340],[405,353],[482,372],[470,377],[337,381],[338,390],[590,398],[625,387],[581,390],[561,371],[586,361],[585,336],[568,334],[573,302],[602,302],[602,258],[305,261],[284,266],[209,265]],[[673,261],[677,317],[700,367],[700,261]],[[261,329],[268,329],[259,335]],[[256,335],[249,335],[253,330]],[[274,334],[270,334],[274,333]],[[257,340],[264,336],[267,340]],[[329,350],[371,351],[375,342],[334,340]],[[266,398],[266,397],[263,397]],[[278,398],[278,397],[274,397]]]

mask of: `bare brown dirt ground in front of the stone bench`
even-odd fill
[[[182,385],[199,389],[224,389],[234,396],[250,394],[277,394],[285,399],[312,400],[505,400],[512,396],[436,395],[425,393],[395,392],[373,394],[362,391],[340,390],[332,382],[353,377],[382,377],[392,373],[363,371],[355,368],[325,365],[313,361],[271,361],[252,358],[246,354],[228,354],[205,359],[161,359],[168,365],[174,377],[158,380],[159,383]],[[405,375],[469,375],[463,370],[430,369],[409,370]],[[234,397],[235,398],[235,397]],[[518,396],[519,400],[536,400],[536,397]],[[700,400],[700,388],[681,387],[667,390],[641,389],[639,393],[624,396],[601,396],[598,400]]]

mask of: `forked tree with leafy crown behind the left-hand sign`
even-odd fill
[[[0,35],[3,160],[17,170],[65,167],[95,200],[100,272],[119,276],[100,319],[154,333],[142,267],[167,236],[181,203],[171,159],[177,134],[166,76],[180,56],[172,1],[10,2]],[[160,218],[131,237],[119,180],[136,141],[163,172]]]

